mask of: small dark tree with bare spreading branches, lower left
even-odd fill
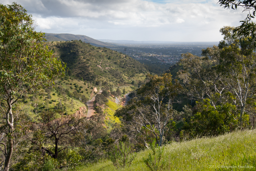
[[[67,149],[68,144],[82,138],[78,130],[83,126],[83,119],[54,111],[42,112],[40,117],[41,124],[30,141],[38,150],[46,151],[52,158],[58,159],[58,154]]]

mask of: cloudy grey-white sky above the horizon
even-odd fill
[[[217,0],[0,0],[12,2],[32,15],[38,32],[109,40],[221,41],[221,27],[247,16]]]

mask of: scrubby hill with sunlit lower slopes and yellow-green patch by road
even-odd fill
[[[93,96],[93,88],[101,86],[125,86],[132,81],[141,82],[147,70],[144,65],[129,56],[108,48],[94,47],[81,41],[46,42],[54,55],[67,63],[65,78],[56,79],[54,88],[45,88],[41,94],[27,94],[22,98],[22,105],[28,111],[32,121],[43,110],[62,109],[67,115],[76,113]],[[112,109],[104,111],[108,125],[112,125]],[[84,115],[87,111],[84,111]],[[111,128],[111,126],[110,126]]]

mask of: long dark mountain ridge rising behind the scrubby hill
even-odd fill
[[[85,43],[90,43],[93,46],[97,47],[113,47],[113,44],[98,41],[92,39],[91,37],[84,36],[84,35],[75,35],[75,34],[68,34],[68,33],[45,33],[45,39],[47,41],[71,41],[71,40],[81,40]]]

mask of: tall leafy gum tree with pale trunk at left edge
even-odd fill
[[[7,127],[7,143],[1,142],[4,171],[9,170],[17,131],[13,121],[18,112],[13,105],[23,94],[51,86],[54,76],[64,75],[65,66],[44,46],[44,34],[35,31],[31,17],[16,3],[0,4],[0,108],[5,120],[2,124]]]

